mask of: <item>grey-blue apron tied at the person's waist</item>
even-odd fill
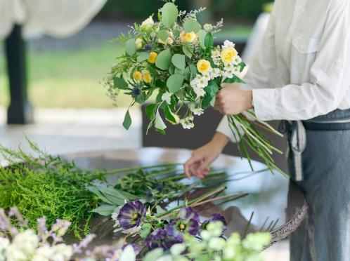
[[[281,124],[292,180],[309,213],[290,236],[292,261],[350,260],[350,109]]]

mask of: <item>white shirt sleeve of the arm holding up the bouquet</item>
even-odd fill
[[[350,86],[350,4],[334,0],[326,18],[310,81],[253,90],[261,120],[304,120],[337,109]]]

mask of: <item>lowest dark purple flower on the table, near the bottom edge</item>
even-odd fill
[[[169,250],[176,243],[181,243],[181,240],[171,238],[165,229],[157,229],[145,238],[145,246],[153,250],[155,248],[163,248]]]

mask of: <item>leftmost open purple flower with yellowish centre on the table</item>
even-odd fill
[[[142,225],[147,209],[141,201],[128,202],[120,208],[117,220],[123,229],[131,229]]]

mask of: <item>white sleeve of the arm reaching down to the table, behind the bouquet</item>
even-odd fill
[[[261,44],[261,48],[257,53],[257,56],[252,61],[252,65],[249,65],[248,72],[245,76],[245,82],[241,86],[242,89],[252,90],[253,88],[272,88],[272,84],[276,81],[274,77],[277,75],[277,62],[276,62],[276,48],[275,48],[275,12],[276,4],[273,5],[273,11],[268,20],[268,27],[266,29],[264,39]],[[271,61],[266,65],[266,60]],[[239,142],[239,136],[237,131],[231,130],[229,126],[227,116],[223,116],[223,119],[219,123],[216,131],[226,135],[232,142]],[[240,133],[243,131],[239,129]]]

